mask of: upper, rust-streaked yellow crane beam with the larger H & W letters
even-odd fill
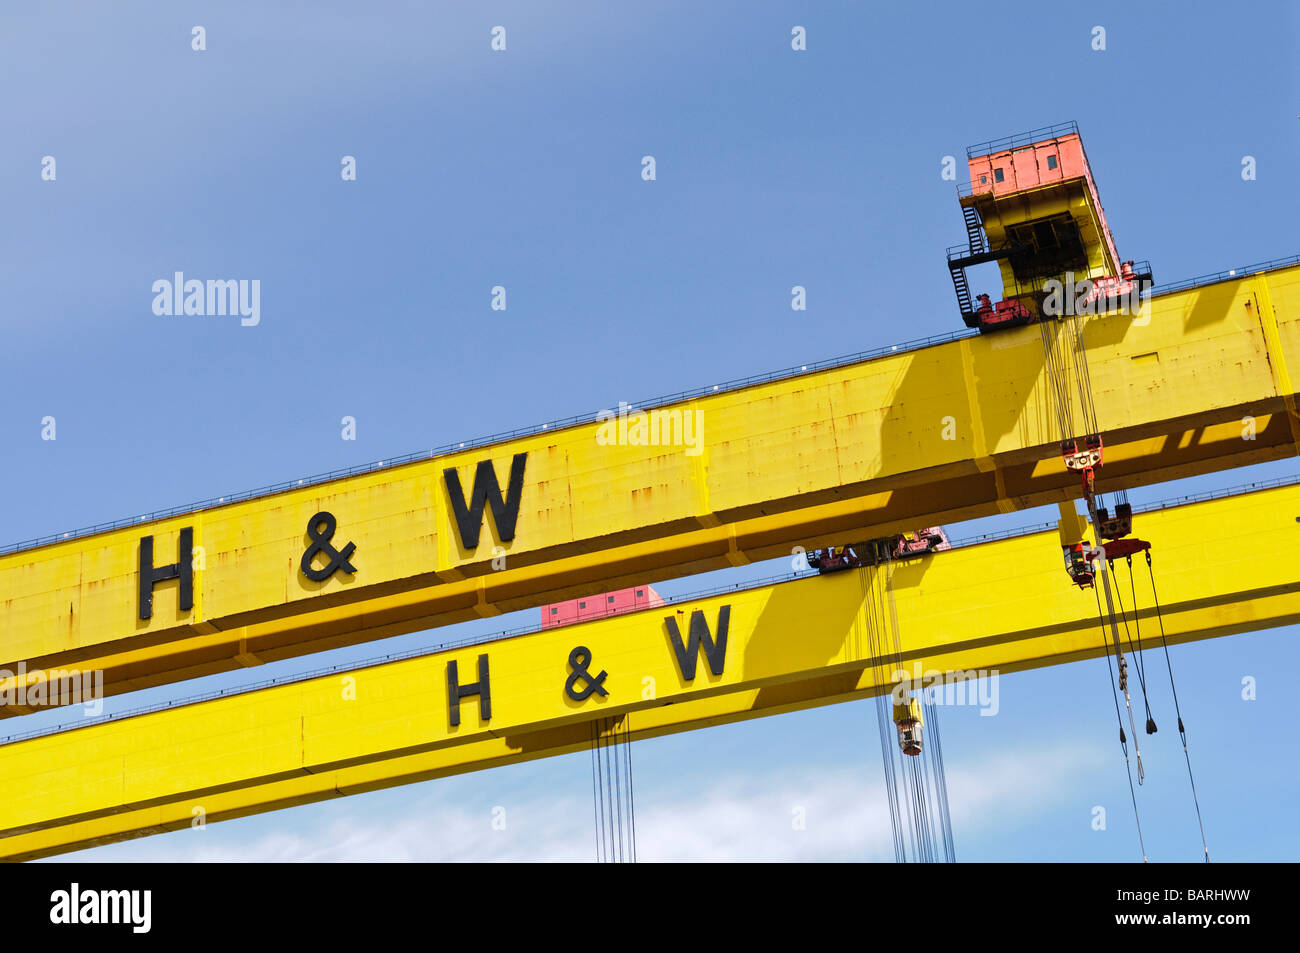
[[[1300,447],[1300,267],[1161,295],[1084,337],[1100,490]],[[20,667],[77,667],[112,694],[1053,503],[1078,493],[1058,438],[1031,326],[142,520],[0,555],[0,689]]]

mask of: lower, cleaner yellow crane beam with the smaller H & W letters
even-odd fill
[[[1300,484],[1139,515],[1169,641],[1300,620],[1297,514]],[[1144,580],[1138,592],[1141,642],[1158,645]],[[914,677],[1106,650],[1096,597],[1041,532],[14,741],[0,746],[0,857],[576,751],[597,719],[644,738],[861,698],[892,684],[870,647],[885,625]]]

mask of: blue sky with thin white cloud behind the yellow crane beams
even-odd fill
[[[1157,281],[1300,252],[1292,4],[552,7],[6,8],[0,542],[952,330],[941,160],[1052,122],[1078,120],[1117,244]],[[176,270],[260,280],[261,322],[155,316]],[[1295,634],[1175,653],[1216,858],[1300,855]],[[1008,676],[996,718],[942,712],[958,858],[1136,857],[1101,666]],[[1148,850],[1196,859],[1176,737],[1144,753]],[[641,742],[634,766],[642,858],[885,855],[870,702]],[[573,755],[84,855],[589,859],[589,785]]]

